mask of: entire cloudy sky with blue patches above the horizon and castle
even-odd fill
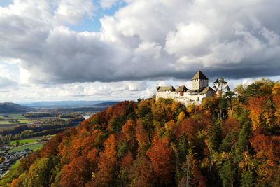
[[[280,80],[279,0],[0,0],[0,102]]]

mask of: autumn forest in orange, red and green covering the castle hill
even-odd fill
[[[280,83],[262,79],[199,106],[110,106],[23,159],[7,186],[280,186],[279,153]]]

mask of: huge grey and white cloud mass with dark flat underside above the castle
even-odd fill
[[[20,3],[0,9],[0,57],[20,59],[34,82],[280,75],[278,0],[135,0],[102,18],[100,32],[80,33],[63,26],[80,12],[58,19],[41,1],[28,14]]]

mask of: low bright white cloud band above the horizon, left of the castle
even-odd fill
[[[1,86],[1,78],[0,78]],[[153,85],[147,81],[113,83],[69,83],[63,85],[18,85],[1,89],[0,102],[30,102],[46,100],[127,100],[151,97]]]

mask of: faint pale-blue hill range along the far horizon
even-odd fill
[[[96,104],[111,103],[116,101],[56,101],[56,102],[34,102],[25,103],[24,106],[34,108],[69,108],[69,107],[85,107],[95,106]],[[107,104],[108,105],[108,104]],[[111,104],[109,104],[111,106]]]

